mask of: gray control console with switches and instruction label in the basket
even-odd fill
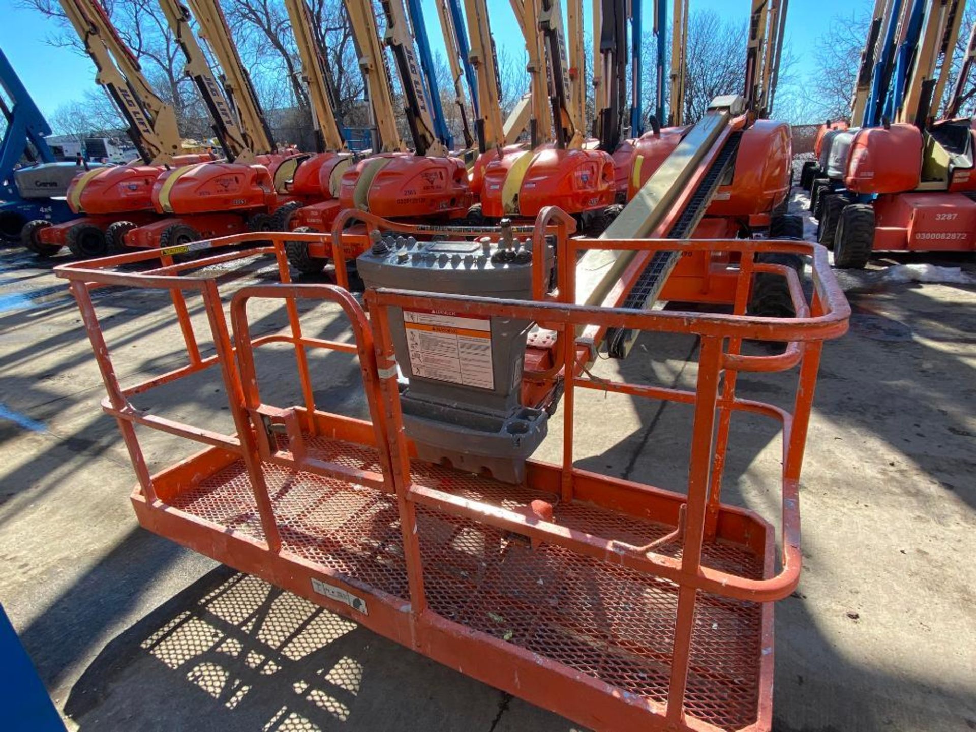
[[[533,259],[531,239],[417,241],[377,232],[356,265],[367,287],[531,300]],[[542,265],[551,270],[551,247]],[[404,427],[419,457],[522,482],[548,420],[520,399],[534,324],[398,307],[389,314]]]

